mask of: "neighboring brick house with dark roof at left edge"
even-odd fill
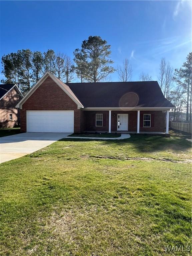
[[[16,84],[0,85],[0,128],[12,128],[19,124],[17,103],[23,95]]]

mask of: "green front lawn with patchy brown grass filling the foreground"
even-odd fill
[[[0,165],[0,255],[190,255],[191,141],[64,139]]]

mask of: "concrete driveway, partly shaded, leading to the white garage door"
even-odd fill
[[[0,138],[0,163],[30,154],[71,133],[26,132]]]

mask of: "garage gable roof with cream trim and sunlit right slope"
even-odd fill
[[[79,108],[83,108],[84,106],[76,97],[76,95],[71,91],[68,85],[64,84],[61,80],[59,80],[56,76],[52,75],[49,71],[47,71],[39,81],[28,91],[28,93],[23,97],[23,99],[16,105],[16,108],[22,109],[23,103],[34,93],[34,91],[45,81],[47,77],[50,77],[76,104]]]

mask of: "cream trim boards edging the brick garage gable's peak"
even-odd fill
[[[22,109],[23,103],[37,90],[37,88],[45,81],[47,77],[50,77],[76,104],[78,108],[84,108],[84,106],[79,103],[60,83],[59,81],[50,73],[46,72],[39,81],[28,91],[28,93],[23,97],[23,99],[16,105],[16,108]],[[67,86],[67,85],[66,85]]]

